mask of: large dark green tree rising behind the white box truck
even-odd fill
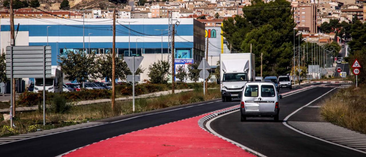
[[[257,74],[260,73],[261,53],[263,53],[265,76],[290,73],[294,46],[293,28],[295,27],[291,9],[263,8],[290,6],[291,3],[286,0],[275,0],[269,3],[253,0],[251,3],[251,6],[243,8],[244,17],[236,16],[224,20],[221,27],[223,36],[231,44],[234,52],[248,53],[252,44]],[[296,36],[297,40],[298,36]]]

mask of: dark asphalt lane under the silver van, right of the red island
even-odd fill
[[[240,122],[238,110],[212,121],[210,127],[220,135],[265,156],[365,156],[357,151],[299,134],[282,124],[286,116],[333,88],[315,87],[285,96],[280,101],[280,121],[273,121],[273,118],[248,118],[248,121]],[[314,103],[322,100],[323,98],[318,99]],[[298,112],[288,121],[291,118],[296,121],[311,121],[314,117],[319,117],[318,113]]]

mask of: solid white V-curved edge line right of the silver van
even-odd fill
[[[365,153],[365,154],[366,154],[366,152],[365,152],[365,151],[361,151],[361,150],[358,150],[358,149],[355,149],[355,148],[352,148],[352,147],[348,147],[348,146],[340,145],[340,144],[335,143],[335,142],[330,142],[330,141],[328,141],[328,140],[324,140],[324,139],[321,139],[321,138],[315,137],[315,136],[313,136],[313,135],[306,134],[306,133],[304,133],[304,132],[302,132],[302,131],[299,131],[298,129],[295,129],[294,127],[292,127],[290,123],[289,123],[290,125],[289,125],[289,124],[287,124],[287,120],[288,120],[288,118],[290,118],[290,117],[291,117],[292,115],[294,115],[296,112],[298,112],[299,110],[303,109],[303,108],[304,108],[304,107],[306,107],[306,106],[309,106],[311,103],[313,103],[313,102],[317,101],[318,99],[322,98],[323,96],[327,95],[328,93],[330,93],[331,91],[333,91],[333,90],[335,90],[335,89],[337,89],[337,88],[338,88],[338,87],[333,88],[332,90],[330,90],[330,91],[326,92],[325,94],[323,94],[323,95],[319,96],[318,98],[314,99],[313,101],[311,101],[311,102],[307,103],[306,105],[304,105],[304,106],[300,107],[299,109],[295,110],[294,112],[292,112],[291,114],[289,114],[288,116],[286,116],[286,117],[284,118],[284,120],[283,120],[283,123],[282,123],[282,124],[283,124],[283,125],[285,125],[286,127],[290,128],[290,129],[292,129],[292,130],[294,130],[294,131],[296,131],[296,132],[300,133],[300,134],[305,135],[305,136],[309,136],[309,137],[311,137],[311,138],[318,139],[318,140],[321,140],[321,141],[326,142],[326,143],[330,143],[330,144],[333,144],[333,145],[341,146],[341,147],[344,147],[344,148],[347,148],[347,149],[355,150],[355,151],[358,151],[358,152],[361,152],[361,153]],[[299,123],[299,124],[301,124],[301,123]],[[314,124],[324,124],[324,123],[314,123]]]

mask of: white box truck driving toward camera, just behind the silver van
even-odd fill
[[[255,80],[254,54],[220,54],[220,83],[223,102],[241,98],[244,84]]]

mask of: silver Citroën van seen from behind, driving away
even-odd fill
[[[279,99],[276,86],[272,82],[249,82],[244,85],[240,105],[241,121],[246,117],[273,117],[279,120]]]

